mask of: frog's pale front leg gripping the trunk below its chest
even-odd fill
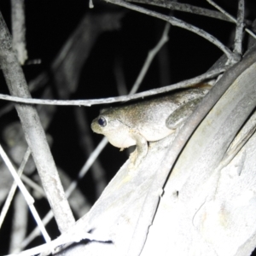
[[[138,131],[130,130],[131,137],[136,141],[136,149],[130,154],[129,169],[135,169],[148,153],[148,142]]]

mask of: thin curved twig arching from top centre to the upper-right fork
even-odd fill
[[[149,9],[145,9],[145,8],[137,6],[135,4],[126,3],[122,0],[109,0],[108,2],[117,4],[119,6],[123,6],[127,9],[135,10],[135,11],[143,13],[145,15],[153,16],[160,20],[166,20],[167,22],[170,22],[172,24],[172,26],[182,27],[183,29],[189,30],[190,32],[195,32],[195,34],[201,36],[202,38],[207,39],[209,42],[211,42],[212,44],[217,46],[219,49],[221,49],[224,52],[224,54],[227,55],[227,58],[230,61],[230,63],[234,62],[233,53],[230,51],[230,49],[228,49],[224,44],[219,42],[217,38],[214,38],[211,34],[203,31],[202,29],[200,29],[196,26],[192,26],[191,24],[184,22],[183,20],[178,20],[177,18],[174,18],[174,17],[170,17],[167,15],[161,15],[160,13],[154,12]]]

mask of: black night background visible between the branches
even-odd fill
[[[212,9],[206,1],[188,1],[201,7]],[[50,64],[65,44],[67,38],[78,26],[84,14],[89,12],[101,12],[119,9],[111,3],[94,2],[95,8],[89,9],[89,3],[84,0],[76,1],[49,1],[30,0],[26,3],[26,42],[30,60],[40,59],[39,65],[27,65],[23,67],[27,82],[35,79],[38,74],[49,70]],[[236,1],[218,1],[230,14],[236,15]],[[255,17],[255,2],[247,1],[247,19]],[[150,7],[151,9],[156,9]],[[156,9],[168,14],[166,9]],[[254,10],[254,13],[253,13]],[[10,28],[10,1],[0,1],[0,11]],[[185,20],[195,26],[199,26],[207,32],[212,33],[223,44],[232,46],[235,26],[222,20],[214,20],[204,16],[189,15],[174,12],[174,16]],[[90,52],[89,58],[84,62],[83,71],[79,79],[79,88],[72,94],[72,99],[91,99],[108,96],[118,96],[116,79],[113,67],[119,61],[125,75],[127,89],[137,79],[137,75],[143,66],[148,50],[152,49],[158,42],[164,29],[165,22],[128,10],[121,20],[121,27],[114,32],[104,32],[97,39],[96,44]],[[172,26],[169,33],[169,42],[161,53],[167,56],[166,68],[169,69],[166,76],[161,74],[160,57],[156,57],[148,73],[143,80],[140,91],[158,88],[163,85],[177,83],[184,79],[193,78],[205,73],[212,64],[218,60],[222,52],[204,38],[200,38],[192,32]],[[8,88],[0,74],[0,93],[9,94]],[[40,97],[36,92],[34,97]],[[7,102],[0,102],[3,108]],[[89,124],[101,108],[108,106],[93,106],[86,108]],[[79,107],[57,107],[55,117],[49,126],[48,133],[53,137],[52,153],[56,165],[60,166],[71,177],[76,177],[79,169],[84,165],[87,156],[81,150],[78,127],[74,119],[74,108]],[[84,108],[84,107],[83,107]],[[17,120],[15,110],[4,115],[0,119],[1,130],[4,125]],[[91,132],[95,145],[102,139],[101,135]],[[119,166],[127,159],[128,154],[119,152],[119,148],[108,145],[100,155],[102,166],[106,168],[108,180],[118,171]],[[81,189],[90,199],[91,203],[96,200],[91,186],[90,172],[82,183]],[[10,212],[11,213],[11,212]],[[10,221],[10,219],[9,219]],[[8,219],[6,221],[8,222]],[[9,235],[8,224],[0,231],[0,254],[7,253]],[[53,232],[55,234],[55,232]],[[3,241],[6,246],[3,246]]]

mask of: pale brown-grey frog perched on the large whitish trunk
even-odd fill
[[[102,109],[92,120],[92,131],[108,138],[114,147],[136,145],[130,155],[130,169],[137,168],[148,153],[148,143],[160,141],[181,127],[208,88],[179,90],[141,102]]]

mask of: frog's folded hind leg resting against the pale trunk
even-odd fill
[[[166,126],[169,129],[175,130],[177,127],[183,125],[186,119],[193,113],[198,103],[201,102],[202,97],[189,101],[181,107],[174,110],[166,119]]]

